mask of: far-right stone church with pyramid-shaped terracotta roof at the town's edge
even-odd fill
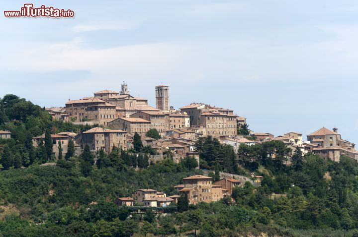
[[[337,128],[333,128],[332,131],[322,127],[307,135],[307,139],[312,145],[315,145],[309,146],[310,151],[323,159],[338,162],[340,157],[345,155],[358,161],[358,151],[355,149],[355,144],[342,139]]]

